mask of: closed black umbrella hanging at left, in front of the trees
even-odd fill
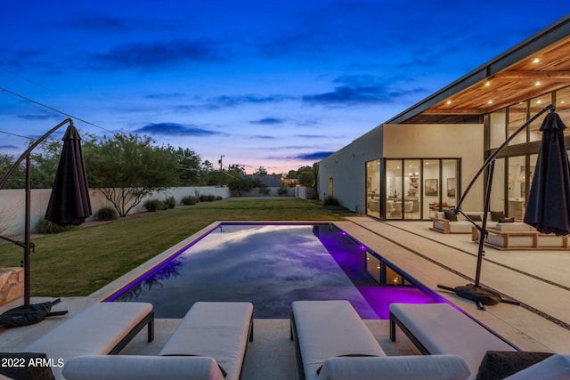
[[[62,226],[79,225],[91,215],[89,186],[81,152],[81,138],[70,123],[63,135],[60,164],[45,219]]]

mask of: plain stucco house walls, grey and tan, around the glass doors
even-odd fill
[[[484,163],[484,129],[482,124],[460,125],[380,125],[354,140],[319,166],[320,198],[329,194],[333,179],[333,196],[342,206],[364,214],[365,165],[378,158],[461,158],[460,190],[465,190]],[[476,182],[463,210],[479,210],[483,204],[483,178]]]

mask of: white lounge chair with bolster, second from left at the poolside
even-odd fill
[[[238,380],[253,341],[252,303],[194,303],[158,356],[78,356],[68,380]]]

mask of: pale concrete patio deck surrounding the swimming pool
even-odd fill
[[[335,224],[434,290],[437,290],[437,284],[449,287],[465,285],[472,282],[475,276],[476,244],[471,242],[470,235],[440,234],[429,230],[430,222],[379,222],[361,216],[346,218],[346,221]],[[159,256],[156,260],[159,260]],[[156,260],[146,265],[150,267]],[[478,311],[475,303],[449,292],[440,294],[525,351],[570,353],[568,268],[570,252],[567,251],[500,251],[486,248],[481,283],[516,299],[522,306],[500,303],[488,306],[486,311]],[[101,301],[110,295],[110,291],[125,284],[140,271],[144,271],[144,266],[94,295],[63,299],[54,310],[69,310],[66,317],[4,330],[0,333],[0,349],[5,352],[18,351],[61,323],[61,320],[91,303]],[[35,298],[32,302],[45,300]],[[0,307],[0,312],[20,303],[17,300],[4,305]],[[154,342],[148,344],[142,332],[122,353],[158,353],[179,321],[157,319]],[[419,354],[402,334],[398,335],[396,343],[389,340],[387,320],[365,322],[388,355]],[[256,319],[255,339],[248,346],[243,379],[297,379],[293,350],[289,340],[289,319]]]

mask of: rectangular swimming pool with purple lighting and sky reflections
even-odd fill
[[[440,298],[332,223],[220,223],[108,301],[153,303],[182,318],[198,301],[248,301],[256,318],[289,318],[295,300],[346,299],[363,319],[393,302]]]

